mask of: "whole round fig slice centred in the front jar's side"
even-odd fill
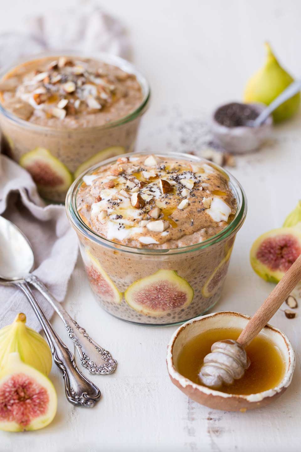
[[[125,291],[125,301],[135,311],[160,317],[190,305],[193,288],[174,270],[158,270],[133,282]]]

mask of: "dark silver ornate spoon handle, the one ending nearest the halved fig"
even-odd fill
[[[27,282],[15,282],[14,284],[24,292],[42,325],[54,362],[63,372],[67,399],[74,405],[93,407],[97,400],[100,399],[101,393],[99,389],[92,381],[89,381],[88,378],[79,372],[74,355],[52,329]]]

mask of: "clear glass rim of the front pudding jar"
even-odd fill
[[[81,234],[83,234],[86,238],[92,240],[93,242],[96,242],[98,245],[105,246],[111,250],[118,250],[122,252],[132,253],[132,254],[143,254],[143,255],[171,255],[171,254],[183,254],[183,253],[190,253],[192,251],[199,251],[203,250],[205,248],[208,248],[208,246],[212,246],[217,244],[218,242],[225,240],[226,238],[231,238],[232,235],[236,234],[236,232],[241,228],[243,222],[245,221],[245,216],[247,212],[247,200],[245,196],[244,189],[241,187],[241,184],[238,182],[238,180],[232,176],[231,173],[229,173],[227,170],[224,170],[219,165],[213,164],[211,161],[206,160],[201,157],[197,157],[195,155],[190,154],[184,154],[184,153],[176,153],[176,152],[168,152],[164,154],[154,154],[159,157],[173,157],[173,158],[182,158],[183,160],[188,161],[194,161],[194,162],[205,162],[213,167],[215,167],[217,170],[227,174],[229,177],[229,185],[232,188],[232,191],[236,197],[237,201],[237,209],[235,213],[235,217],[227,225],[222,231],[218,232],[218,234],[213,235],[212,237],[209,237],[207,240],[204,240],[203,242],[194,244],[194,245],[188,245],[183,246],[181,248],[168,248],[168,249],[148,249],[148,248],[135,248],[128,245],[121,245],[119,243],[116,243],[112,240],[108,240],[105,237],[102,237],[101,235],[96,234],[92,229],[90,229],[81,219],[79,216],[79,213],[76,208],[76,196],[79,190],[80,185],[82,184],[82,178],[85,174],[90,173],[91,171],[99,168],[100,166],[108,165],[110,163],[113,164],[113,162],[116,162],[117,159],[120,157],[130,157],[130,156],[137,156],[137,155],[149,155],[150,152],[142,151],[142,152],[130,152],[128,154],[122,154],[118,155],[116,157],[111,157],[110,159],[103,160],[102,162],[97,163],[96,165],[91,166],[86,170],[83,174],[81,174],[77,179],[74,180],[73,184],[69,187],[68,193],[66,195],[66,201],[65,201],[65,207],[67,212],[67,217],[69,218],[69,221],[74,226],[76,230],[78,230]]]

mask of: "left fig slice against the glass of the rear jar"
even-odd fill
[[[36,147],[20,158],[20,165],[32,175],[41,195],[53,199],[57,193],[67,192],[73,177],[68,168],[48,149]]]

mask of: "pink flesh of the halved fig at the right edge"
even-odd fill
[[[278,235],[265,239],[256,258],[271,270],[285,273],[301,254],[300,242],[293,235]]]

